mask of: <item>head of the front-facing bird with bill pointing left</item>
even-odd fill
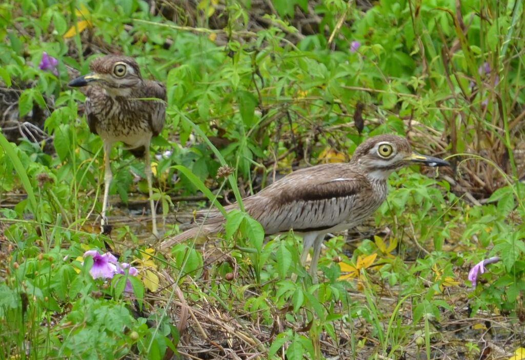
[[[91,61],[91,72],[69,82],[69,86],[98,85],[115,96],[126,96],[133,86],[142,82],[139,65],[135,60],[107,55]]]

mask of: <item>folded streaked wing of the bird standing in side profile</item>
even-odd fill
[[[274,234],[292,228],[324,230],[348,222],[372,196],[366,176],[341,163],[295,171],[244,202],[265,232]]]

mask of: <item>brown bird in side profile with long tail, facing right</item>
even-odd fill
[[[317,283],[321,245],[328,233],[348,230],[361,224],[383,203],[388,176],[403,167],[421,164],[449,166],[445,160],[412,151],[407,139],[377,135],[361,143],[349,162],[327,163],[287,174],[260,192],[243,199],[245,211],[264,228],[266,235],[293,230],[303,237],[301,264],[313,247],[310,276]],[[226,212],[238,209],[225,206]],[[161,249],[197,236],[224,230],[224,216],[206,214],[205,222],[161,243]]]

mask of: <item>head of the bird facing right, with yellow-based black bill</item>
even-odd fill
[[[449,166],[448,161],[412,151],[408,140],[395,135],[379,135],[359,145],[352,156],[352,163],[363,167],[369,177],[385,180],[403,167],[419,164],[425,166]]]

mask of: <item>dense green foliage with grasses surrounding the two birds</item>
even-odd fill
[[[170,312],[177,286],[196,315],[220,309],[248,324],[231,333],[245,334],[235,341],[261,358],[433,358],[433,344],[446,342],[436,324],[451,314],[523,321],[521,1],[185,3],[0,4],[2,127],[13,126],[14,112],[22,127],[41,121],[46,135],[17,144],[0,135],[0,200],[27,195],[0,209],[0,358],[163,358],[180,345]],[[44,52],[58,60],[56,74],[39,69]],[[208,207],[239,200],[276,172],[348,159],[376,134],[408,136],[454,166],[438,177],[417,168],[393,175],[373,230],[350,252],[345,237],[325,242],[319,285],[299,264],[293,234],[265,242],[241,211],[228,216],[219,256],[188,243],[149,258],[158,242],[145,245],[137,224],[92,233],[102,143],[79,116],[85,96],[66,84],[100,52],[134,57],[145,78],[166,84],[166,126],[152,147],[170,150],[155,164],[165,237],[178,231],[176,197],[204,194],[209,203],[199,205]],[[128,203],[145,190],[128,170],[144,178],[143,163],[122,147],[111,157],[120,159],[111,193]],[[233,169],[226,178],[224,166]],[[79,258],[107,243],[139,267],[142,281],[130,279],[137,301],[122,276],[93,280],[89,258]],[[472,289],[469,268],[489,256],[501,261]],[[350,281],[340,278],[341,259],[355,269]],[[256,336],[254,323],[267,333]],[[505,344],[513,352],[522,339],[504,331],[515,336]],[[481,346],[460,347],[478,358]]]

